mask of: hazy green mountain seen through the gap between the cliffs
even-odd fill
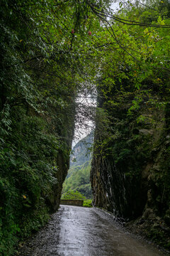
[[[93,142],[94,132],[91,132],[74,146],[62,193],[72,189],[84,194],[86,198],[91,198],[90,171]]]

